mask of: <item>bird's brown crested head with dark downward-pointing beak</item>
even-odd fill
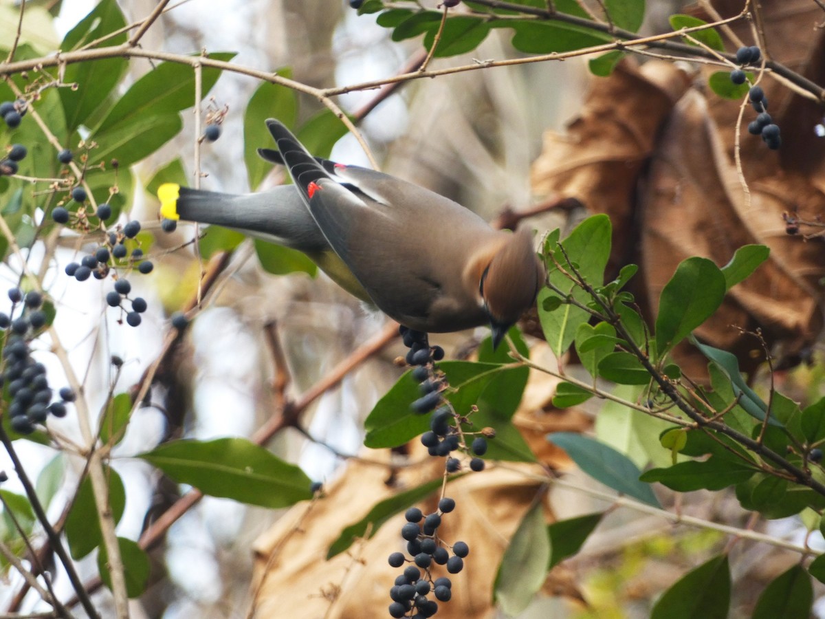
[[[493,348],[535,303],[543,284],[544,265],[535,255],[533,235],[530,229],[521,228],[493,254],[479,281],[479,293],[493,330]]]

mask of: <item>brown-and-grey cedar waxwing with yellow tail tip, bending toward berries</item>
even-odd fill
[[[232,196],[166,184],[161,214],[219,224],[299,249],[346,291],[424,333],[489,324],[493,346],[535,303],[544,267],[530,230],[494,230],[479,215],[413,183],[314,158],[266,120],[295,185]]]

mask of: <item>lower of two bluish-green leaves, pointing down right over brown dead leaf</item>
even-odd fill
[[[627,494],[642,503],[661,508],[650,486],[639,481],[639,467],[613,447],[575,432],[554,432],[547,438],[549,442],[567,451],[573,462],[594,480],[620,494]]]

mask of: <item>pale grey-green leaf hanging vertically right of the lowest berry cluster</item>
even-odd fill
[[[493,599],[507,615],[524,611],[539,592],[550,560],[550,541],[542,503],[536,502],[521,519],[498,566]]]

